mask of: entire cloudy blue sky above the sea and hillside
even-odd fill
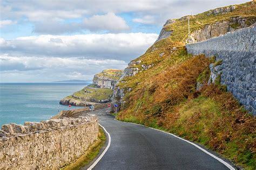
[[[0,0],[0,82],[91,80],[142,55],[167,19],[244,0]]]

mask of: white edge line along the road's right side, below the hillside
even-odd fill
[[[114,119],[114,120],[115,120],[115,121],[118,121],[117,119]],[[118,121],[118,122],[122,122],[122,121]],[[141,125],[141,124],[136,124],[136,123],[131,123],[131,122],[123,122],[123,123],[130,123],[130,124],[135,124],[135,125],[144,126],[144,125]],[[150,128],[150,127],[148,127],[148,126],[144,126],[144,127]],[[193,146],[196,146],[199,150],[205,152],[206,154],[210,155],[210,156],[213,157],[214,159],[217,159],[219,162],[221,162],[222,164],[224,164],[224,165],[225,165],[226,167],[228,167],[229,169],[235,170],[234,167],[232,167],[230,164],[228,164],[228,163],[225,162],[224,160],[222,160],[222,159],[216,157],[214,154],[212,154],[212,153],[206,151],[204,148],[201,148],[200,146],[198,146],[197,144],[192,143],[191,141],[188,141],[188,140],[186,140],[186,139],[180,138],[180,137],[176,136],[175,134],[172,134],[172,133],[169,133],[169,132],[165,132],[165,131],[161,131],[161,130],[159,130],[159,129],[154,129],[154,128],[150,128],[150,129],[157,130],[157,131],[160,131],[160,132],[164,132],[164,133],[167,133],[167,134],[171,134],[172,136],[174,136],[174,137],[176,137],[176,138],[179,138],[179,139],[181,139],[181,140],[184,140],[184,141],[186,141],[187,143],[189,143],[189,144],[191,144],[191,145],[193,145]]]

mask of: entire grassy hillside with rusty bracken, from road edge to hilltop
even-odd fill
[[[250,2],[237,5],[233,12],[217,16],[207,13],[210,11],[192,17],[191,32],[238,16],[248,18],[248,24],[253,24],[256,6]],[[154,63],[154,66],[119,82],[118,86],[126,93],[117,118],[178,134],[219,152],[238,165],[256,169],[255,117],[220,83],[207,86],[208,66],[218,61],[187,54],[186,19],[176,19],[165,29],[173,31],[169,38],[156,42],[133,60],[141,60],[140,65]],[[197,81],[204,84],[200,91],[196,90]],[[128,88],[132,90],[127,91]]]

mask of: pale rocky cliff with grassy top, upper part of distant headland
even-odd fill
[[[106,69],[93,77],[93,84],[98,88],[113,89],[117,81],[123,74],[123,70]]]

